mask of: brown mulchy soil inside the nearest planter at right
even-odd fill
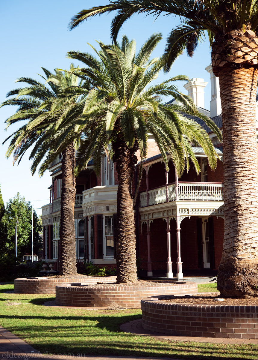
[[[248,299],[231,299],[227,298],[223,301],[216,301],[221,299],[219,292],[214,293],[198,293],[196,295],[184,296],[161,296],[160,301],[186,303],[186,304],[202,304],[202,305],[258,305],[258,297],[250,297]]]

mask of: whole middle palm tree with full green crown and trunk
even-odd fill
[[[87,131],[87,137],[78,149],[78,168],[83,168],[93,157],[95,171],[100,171],[102,155],[112,153],[118,173],[116,262],[117,282],[137,280],[135,258],[135,225],[132,184],[139,150],[142,159],[147,156],[148,134],[152,134],[167,164],[171,155],[178,174],[182,174],[189,159],[199,171],[191,142],[201,144],[208,156],[210,166],[216,167],[217,159],[209,136],[185,113],[204,118],[220,137],[220,131],[208,118],[199,114],[190,97],[183,95],[173,84],[185,81],[176,76],[161,84],[150,85],[163,66],[163,58],[150,59],[161,34],[152,35],[139,50],[135,41],[123,36],[121,45],[105,45],[98,42],[101,50],[95,50],[98,59],[91,54],[69,52],[69,57],[81,60],[86,68],[77,69],[91,82],[84,104],[84,120],[74,125],[75,131]],[[149,86],[149,87],[148,87]],[[167,106],[161,96],[173,96],[182,105]]]

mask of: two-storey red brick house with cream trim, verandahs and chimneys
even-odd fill
[[[221,105],[217,78],[211,66],[211,110],[204,109],[207,82],[194,78],[185,88],[199,110],[211,116],[221,128]],[[173,100],[172,100],[173,101]],[[200,123],[200,120],[198,120]],[[201,122],[202,124],[202,122]],[[143,176],[135,204],[137,257],[147,276],[158,270],[167,277],[183,279],[184,269],[217,269],[223,244],[223,154],[214,134],[218,165],[212,172],[202,148],[193,147],[201,166],[197,175],[193,166],[178,178],[172,162],[166,171],[155,141],[149,138],[148,158],[143,162]],[[50,203],[42,207],[43,258],[58,260],[61,158],[50,167],[52,185]],[[135,171],[135,188],[139,166]],[[115,163],[103,156],[100,176],[93,164],[76,178],[74,225],[78,261],[115,266],[114,238],[116,191]]]

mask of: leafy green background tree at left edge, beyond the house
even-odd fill
[[[31,254],[31,217],[32,206],[30,202],[26,202],[24,197],[19,193],[10,199],[6,204],[6,210],[2,217],[1,231],[3,231],[3,240],[1,241],[1,253],[14,255],[15,248],[15,227],[16,218],[18,217],[18,247],[17,255],[22,257],[25,253]],[[2,230],[3,229],[3,230]],[[41,226],[37,213],[33,210],[33,252],[40,255],[42,249],[42,237],[40,236]]]

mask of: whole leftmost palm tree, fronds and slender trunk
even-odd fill
[[[45,73],[45,77],[42,77],[48,86],[30,78],[19,78],[18,82],[27,83],[28,86],[10,91],[7,96],[15,97],[1,104],[19,106],[15,114],[6,120],[7,127],[17,121],[28,120],[26,125],[9,136],[11,141],[6,156],[13,153],[13,162],[19,159],[19,164],[26,150],[33,145],[31,171],[34,174],[43,160],[39,170],[39,174],[43,175],[52,161],[62,154],[59,274],[73,275],[77,273],[74,229],[75,148],[73,141],[70,141],[62,151],[59,149],[63,138],[58,137],[57,129],[60,124],[65,127],[69,121],[80,116],[83,110],[82,100],[88,93],[89,84],[68,71],[55,69],[51,73],[42,69]],[[77,89],[76,95],[65,94],[65,91],[74,87]],[[66,138],[70,132],[66,134]]]

